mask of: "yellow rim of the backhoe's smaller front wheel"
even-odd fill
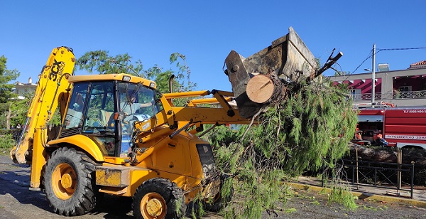
[[[166,205],[163,196],[158,193],[147,193],[141,201],[143,218],[164,218]]]

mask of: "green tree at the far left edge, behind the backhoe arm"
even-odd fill
[[[10,82],[16,80],[19,76],[18,70],[8,70],[6,68],[7,58],[4,55],[0,56],[0,122],[1,128],[9,129],[11,124],[10,120],[12,117],[11,105],[13,103],[12,98],[16,97],[13,93],[13,87],[15,85]]]

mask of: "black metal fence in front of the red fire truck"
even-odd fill
[[[353,185],[396,189],[398,195],[401,191],[408,191],[410,198],[413,198],[414,164],[346,159],[342,159],[340,164],[346,173],[346,176],[341,177],[351,181]],[[410,188],[402,188],[402,185],[410,186]]]

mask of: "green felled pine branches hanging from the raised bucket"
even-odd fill
[[[231,186],[237,194],[237,203],[224,210],[226,218],[261,218],[263,210],[273,212],[288,198],[286,178],[333,169],[349,151],[356,126],[349,91],[327,82],[290,82],[286,87],[286,99],[261,114],[260,124],[236,132],[222,127],[208,137],[217,167],[226,176],[222,195],[232,196]]]

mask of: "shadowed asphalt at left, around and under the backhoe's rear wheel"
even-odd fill
[[[29,185],[30,168],[13,164],[9,156],[0,155],[0,219],[70,218],[52,213],[43,191],[30,191]],[[105,196],[99,208],[72,218],[133,218],[131,198]]]

